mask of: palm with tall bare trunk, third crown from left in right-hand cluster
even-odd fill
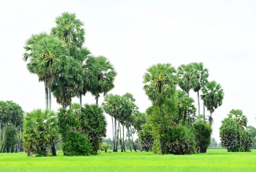
[[[198,95],[198,116],[200,115],[200,95],[199,91],[201,90],[204,85],[208,82],[208,69],[204,68],[204,63],[192,63],[193,68],[194,68],[194,73],[197,78],[197,84],[194,86],[193,90],[197,92]],[[198,118],[199,123],[200,123],[200,118]]]

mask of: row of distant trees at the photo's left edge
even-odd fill
[[[12,101],[0,101],[0,152],[22,150],[22,124],[23,110],[20,105]]]

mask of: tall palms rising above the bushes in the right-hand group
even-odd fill
[[[180,116],[183,115],[183,125],[186,118],[190,127],[190,120],[195,116],[194,100],[189,97],[189,91],[194,90],[198,94],[198,121],[200,123],[200,90],[202,90],[201,99],[204,101],[204,106],[210,112],[209,124],[212,124],[212,113],[222,104],[224,92],[221,85],[215,81],[208,82],[208,69],[204,68],[202,62],[189,63],[180,65],[177,70],[169,63],[152,65],[147,69],[143,76],[145,94],[151,100],[153,105],[156,105],[160,110],[160,116],[164,118],[165,113],[162,107],[168,104],[169,99],[177,99],[178,118],[173,120],[176,124],[180,121]],[[176,91],[176,86],[179,86],[183,91]],[[204,112],[205,123],[205,112]],[[176,125],[175,124],[175,125]],[[157,135],[160,138],[162,154],[164,154],[164,124],[159,124]]]

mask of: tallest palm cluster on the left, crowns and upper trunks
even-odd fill
[[[93,56],[83,47],[83,23],[73,13],[64,12],[55,20],[50,34],[33,34],[26,41],[23,60],[30,73],[37,74],[45,85],[46,109],[51,110],[51,95],[62,107],[70,106],[73,97],[90,92],[96,97],[113,89],[116,71],[104,56]]]

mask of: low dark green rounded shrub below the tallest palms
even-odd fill
[[[67,134],[67,141],[63,144],[65,156],[91,155],[92,147],[86,136],[74,131]]]

